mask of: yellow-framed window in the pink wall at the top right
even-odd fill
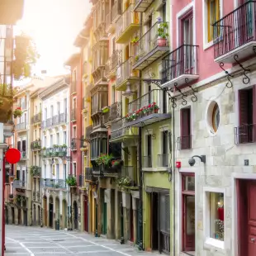
[[[213,40],[212,24],[220,20],[220,0],[207,0],[207,31],[208,42]]]

